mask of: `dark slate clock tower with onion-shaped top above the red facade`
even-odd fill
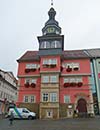
[[[56,11],[53,7],[50,8],[48,15],[49,20],[42,29],[42,36],[38,37],[39,55],[61,55],[64,49],[64,36],[61,35],[61,28],[55,20]]]

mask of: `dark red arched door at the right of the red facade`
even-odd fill
[[[85,99],[81,98],[78,100],[77,103],[77,110],[79,113],[87,113],[87,106],[86,106],[87,102]]]

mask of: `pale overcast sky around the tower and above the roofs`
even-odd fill
[[[64,49],[100,48],[100,0],[54,0]],[[0,69],[17,77],[19,59],[38,50],[51,0],[0,0]]]

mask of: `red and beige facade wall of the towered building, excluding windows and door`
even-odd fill
[[[44,67],[44,59],[57,59],[57,64],[52,67],[48,65]],[[78,63],[79,69],[74,70],[72,68],[71,72],[66,71],[67,67],[65,64]],[[25,72],[26,64],[38,64],[37,69],[34,72]],[[61,69],[61,67],[63,69]],[[56,83],[43,83],[43,76],[52,76],[56,75],[58,82]],[[71,60],[61,60],[60,56],[42,56],[39,62],[22,62],[19,63],[18,68],[18,77],[19,77],[19,96],[18,104],[24,104],[27,106],[30,103],[24,103],[23,99],[25,95],[35,95],[35,102],[39,104],[39,117],[42,118],[59,118],[59,117],[73,117],[73,112],[77,107],[77,102],[80,98],[83,98],[87,101],[87,111],[90,112],[90,107],[92,107],[92,98],[91,98],[91,84],[90,78],[91,69],[89,59],[71,59]],[[78,87],[64,87],[64,78],[82,78],[82,86]],[[31,86],[25,87],[25,80],[27,78],[37,79],[35,88]],[[42,101],[43,93],[57,93],[57,101],[47,102]],[[64,96],[70,96],[70,102],[64,102]],[[50,97],[49,97],[50,98]],[[92,105],[90,105],[92,104]],[[34,106],[34,105],[33,105]],[[92,109],[93,112],[93,109]],[[48,113],[51,113],[51,116],[48,117]]]

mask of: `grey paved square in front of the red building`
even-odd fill
[[[60,120],[0,120],[0,130],[100,130],[100,117]]]

